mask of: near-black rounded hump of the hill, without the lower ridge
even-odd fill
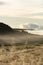
[[[9,33],[9,32],[13,32],[13,29],[7,24],[0,22],[0,34]]]

